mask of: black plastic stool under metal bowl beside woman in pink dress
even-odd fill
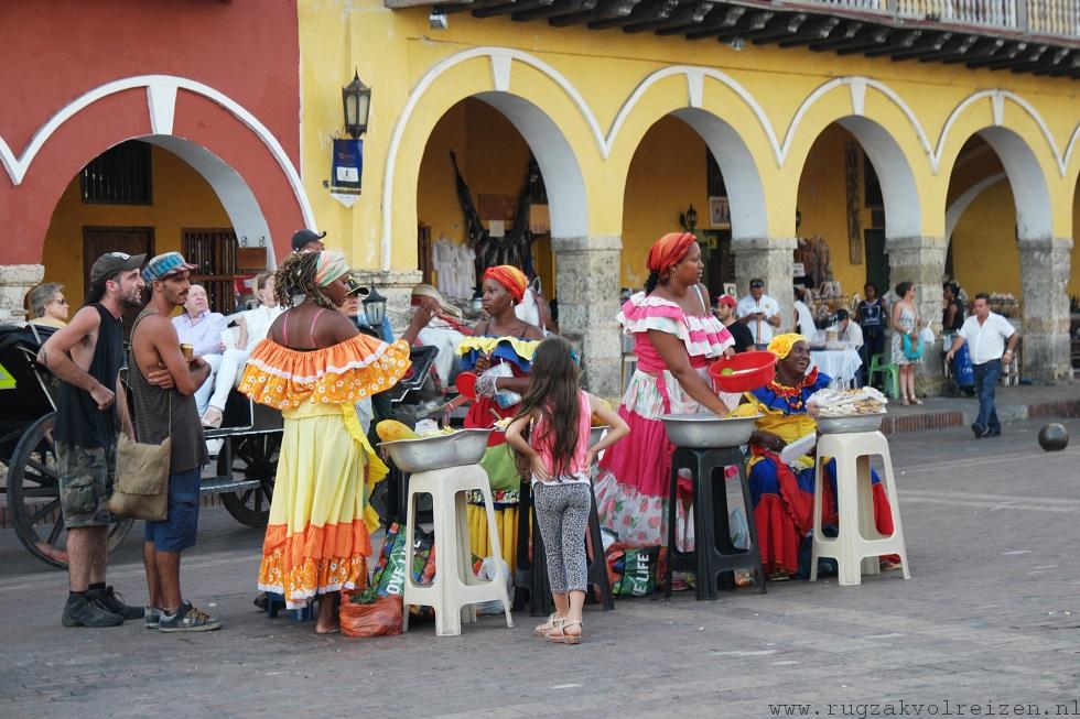
[[[753,569],[757,573],[757,586],[765,593],[765,567],[757,543],[750,488],[743,471],[743,453],[737,447],[692,449],[676,447],[671,456],[671,493],[668,498],[668,567],[665,573],[665,595],[671,596],[671,574],[674,570],[692,571],[698,579],[696,598],[716,599],[717,580],[725,589],[735,588],[735,569]],[[727,488],[724,486],[724,468],[735,466],[743,488],[746,505],[748,549],[736,549],[732,544],[727,522]],[[689,469],[693,479],[694,548],[682,552],[676,544],[678,518],[679,470]],[[716,472],[720,486],[716,486]],[[723,577],[721,577],[723,575]]]

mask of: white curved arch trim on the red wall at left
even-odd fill
[[[30,165],[33,163],[34,157],[37,156],[37,153],[44,146],[45,142],[48,141],[48,139],[62,124],[67,122],[75,115],[86,109],[94,102],[108,97],[109,95],[142,87],[147,88],[148,112],[150,113],[151,127],[156,134],[172,134],[173,111],[177,89],[201,95],[225,108],[230,115],[251,130],[267,146],[270,154],[277,161],[278,166],[281,167],[281,171],[284,173],[285,178],[289,181],[290,187],[292,187],[293,195],[296,198],[296,204],[300,205],[301,213],[304,216],[305,225],[309,228],[317,229],[315,225],[315,214],[312,211],[311,203],[307,200],[307,194],[304,192],[303,183],[300,179],[300,174],[293,166],[292,161],[284,151],[284,148],[281,146],[281,143],[278,142],[278,139],[272,132],[270,132],[269,128],[262,124],[262,122],[259,121],[259,119],[248,111],[242,105],[224,92],[210,87],[209,85],[205,85],[204,83],[198,83],[185,77],[176,77],[173,75],[139,75],[137,77],[126,77],[106,83],[105,85],[100,85],[91,90],[88,90],[87,92],[84,92],[75,100],[61,108],[60,111],[53,115],[53,117],[45,122],[45,124],[41,126],[30,139],[30,142],[22,151],[22,154],[18,157],[15,156],[14,152],[12,152],[7,141],[0,137],[0,162],[3,163],[4,170],[8,172],[8,176],[11,177],[11,183],[15,186],[22,183],[26,176],[26,172],[30,170]]]

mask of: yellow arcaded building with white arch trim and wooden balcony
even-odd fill
[[[1060,380],[1080,293],[1076,4],[301,2],[304,183],[332,244],[407,284],[432,244],[467,240],[451,152],[507,236],[534,157],[537,271],[601,392],[619,288],[691,205],[706,276],[765,279],[789,325],[797,238],[821,238],[819,283],[911,281],[938,329],[947,275],[1015,295],[1025,375]],[[324,181],[354,68],[372,99],[346,207]]]

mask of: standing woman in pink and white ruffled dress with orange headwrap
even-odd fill
[[[667,544],[674,446],[657,417],[698,412],[726,416],[739,400],[717,395],[706,372],[713,360],[734,353],[735,342],[709,309],[703,266],[693,235],[665,235],[649,251],[646,292],[630,297],[618,315],[623,331],[634,337],[638,360],[618,410],[630,426],[630,440],[604,455],[596,506],[601,524],[630,546]],[[689,498],[687,481],[680,494]],[[692,527],[685,520],[680,502],[677,535],[689,538]]]

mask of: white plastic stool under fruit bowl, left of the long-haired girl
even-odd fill
[[[506,611],[506,625],[510,619],[510,599],[506,593],[506,569],[496,562],[496,576],[482,581],[473,574],[468,546],[468,522],[465,516],[465,494],[468,490],[484,494],[487,512],[487,531],[494,556],[500,557],[499,534],[495,526],[495,510],[487,472],[479,465],[434,469],[417,472],[409,478],[409,509],[406,515],[406,581],[401,615],[402,631],[409,631],[409,606],[424,604],[435,610],[435,634],[457,636],[462,621],[476,621],[476,604],[497,599]],[[435,520],[435,577],[430,585],[418,585],[412,578],[412,537],[415,536],[417,494],[431,494]]]

